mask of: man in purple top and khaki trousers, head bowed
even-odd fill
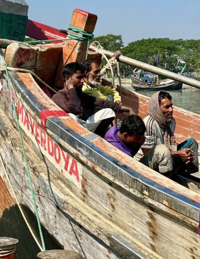
[[[111,127],[104,139],[130,157],[134,157],[145,141],[146,127],[141,117],[129,115],[121,122],[121,127]],[[172,158],[166,145],[158,145],[151,149],[139,162],[145,166],[171,178]]]

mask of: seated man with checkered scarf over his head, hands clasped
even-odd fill
[[[154,146],[165,144],[171,152],[176,171],[184,170],[187,174],[194,173],[198,171],[198,144],[194,139],[176,144],[171,99],[171,95],[164,91],[154,93],[149,99],[148,115],[144,118],[146,141],[141,146],[141,150],[145,155]]]

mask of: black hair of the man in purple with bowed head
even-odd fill
[[[145,124],[140,116],[128,115],[121,122],[120,133],[126,132],[129,136],[143,135],[146,131]]]

